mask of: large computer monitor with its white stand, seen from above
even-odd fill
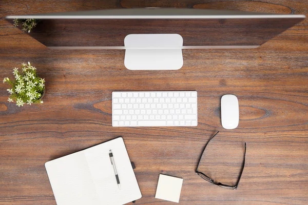
[[[106,9],[7,16],[40,19],[29,33],[50,49],[126,49],[131,70],[176,70],[182,49],[252,49],[304,15],[207,9]]]

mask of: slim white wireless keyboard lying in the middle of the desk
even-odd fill
[[[113,127],[197,126],[196,91],[112,92]]]

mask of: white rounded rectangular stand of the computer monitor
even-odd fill
[[[183,66],[179,34],[130,34],[124,46],[124,65],[129,70],[178,70]]]

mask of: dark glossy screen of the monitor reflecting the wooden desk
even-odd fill
[[[47,47],[119,47],[128,34],[180,34],[183,46],[260,46],[300,20],[41,19],[29,35]]]

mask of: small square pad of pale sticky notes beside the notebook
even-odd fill
[[[183,179],[160,174],[155,198],[179,203]]]

